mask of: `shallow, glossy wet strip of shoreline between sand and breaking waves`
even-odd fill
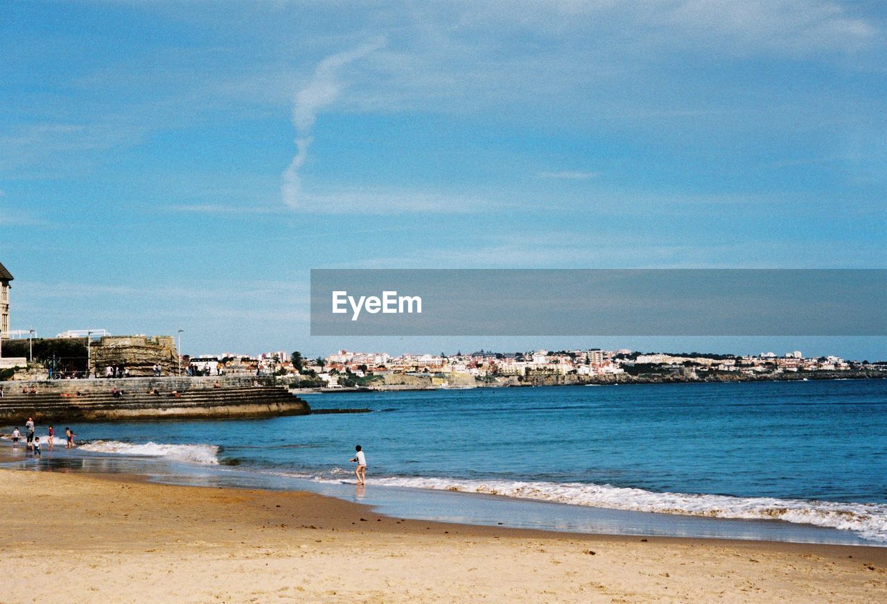
[[[359,503],[383,515],[412,521],[541,530],[561,535],[833,544],[887,550],[887,544],[869,540],[854,530],[776,517],[710,516],[607,505],[576,505],[501,492],[404,486],[391,484],[385,477],[377,477],[373,481],[373,489],[366,492],[364,489],[357,490],[349,480],[314,481],[300,475],[255,473],[224,464],[177,461],[175,458],[169,459],[163,455],[155,457],[154,454],[143,452],[128,457],[125,453],[88,450],[84,456],[76,450],[68,452],[61,446],[56,449],[53,456],[44,447],[44,456],[37,465],[38,462],[27,455],[23,447],[16,453],[8,447],[0,448],[0,465],[12,464],[0,469],[25,473],[72,473],[109,480],[130,477],[153,484],[182,487],[304,492]],[[34,463],[31,463],[32,460]],[[186,469],[178,467],[178,464],[184,464]]]

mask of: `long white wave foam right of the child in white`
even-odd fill
[[[373,478],[373,484],[436,489],[588,505],[632,512],[673,513],[742,520],[780,520],[851,530],[870,541],[887,542],[887,505],[775,497],[731,497],[655,493],[578,482],[468,481],[442,478]]]

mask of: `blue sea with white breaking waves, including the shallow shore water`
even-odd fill
[[[44,446],[34,459],[20,447],[3,465],[311,490],[401,518],[887,546],[887,380],[303,398],[372,411],[71,425],[76,449]],[[358,444],[365,488],[349,462]]]

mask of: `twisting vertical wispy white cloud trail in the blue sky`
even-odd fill
[[[302,182],[299,171],[308,158],[308,147],[311,144],[311,131],[317,121],[318,112],[332,105],[339,99],[345,83],[341,81],[340,71],[350,63],[364,58],[385,45],[383,39],[377,39],[357,48],[339,52],[326,57],[318,63],[310,82],[295,93],[293,107],[293,125],[295,126],[295,156],[283,172],[283,201],[291,208],[299,208],[302,200]]]

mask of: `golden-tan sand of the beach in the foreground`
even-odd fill
[[[0,470],[0,492],[3,602],[887,601],[887,548],[402,521],[75,473]]]

